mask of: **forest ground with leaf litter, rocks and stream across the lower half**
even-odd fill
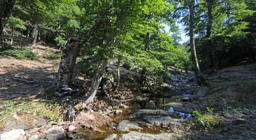
[[[86,96],[92,76],[76,69],[73,89],[85,90],[54,97],[47,89],[59,60],[44,58],[46,49],[42,45],[32,49],[37,61],[0,58],[1,133],[21,129],[26,133],[21,133],[23,139],[30,140],[256,139],[256,63],[218,70],[208,76],[207,87],[198,86],[193,73],[173,75],[165,83],[148,77],[141,87],[136,83],[139,74],[121,67],[119,90],[99,90],[93,103],[82,112],[77,110],[76,121],[69,122],[67,109]],[[113,74],[113,63],[106,75]],[[28,82],[35,80],[44,82]],[[206,107],[213,109],[207,112]],[[190,118],[194,110],[198,116]],[[69,131],[70,126],[75,130]]]

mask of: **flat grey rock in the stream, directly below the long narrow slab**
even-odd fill
[[[170,116],[144,116],[144,120],[156,126],[181,126],[183,119],[174,119]]]

